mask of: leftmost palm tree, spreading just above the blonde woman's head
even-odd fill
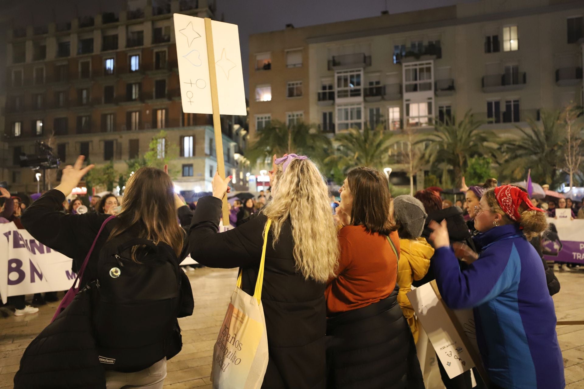
[[[324,159],[325,150],[330,146],[331,139],[315,125],[300,122],[288,126],[274,120],[258,131],[256,141],[246,151],[246,157],[255,163],[274,154],[296,153],[319,161]]]

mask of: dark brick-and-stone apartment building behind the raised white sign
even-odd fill
[[[161,4],[161,5],[160,5]],[[213,17],[211,0],[128,1],[119,13],[78,17],[47,26],[14,26],[8,32],[5,139],[11,150],[9,184],[36,191],[33,171],[20,155],[36,152],[34,141],[53,147],[61,163],[85,155],[111,160],[119,171],[143,156],[164,129],[161,153],[176,150],[176,185],[207,191],[217,168],[210,115],[185,114],[180,103],[172,14]],[[233,140],[241,118],[222,117],[227,174],[245,166]],[[57,177],[54,175],[53,177]],[[54,184],[54,183],[53,183]]]

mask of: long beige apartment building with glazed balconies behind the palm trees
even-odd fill
[[[250,133],[431,129],[468,110],[505,133],[583,103],[584,5],[481,0],[250,37]],[[392,173],[393,174],[393,173]]]

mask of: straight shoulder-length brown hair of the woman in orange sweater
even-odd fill
[[[349,189],[353,194],[351,224],[364,226],[372,233],[389,235],[397,230],[390,219],[391,193],[387,177],[371,167],[356,167],[347,174]]]

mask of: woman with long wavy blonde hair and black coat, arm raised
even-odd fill
[[[271,219],[262,288],[269,362],[262,387],[324,388],[324,293],[339,254],[328,188],[305,156],[274,163],[272,199],[247,222],[222,233],[217,228],[229,179],[215,175],[213,196],[200,198],[194,212],[191,256],[207,267],[240,267],[242,289],[253,295],[262,232]]]

